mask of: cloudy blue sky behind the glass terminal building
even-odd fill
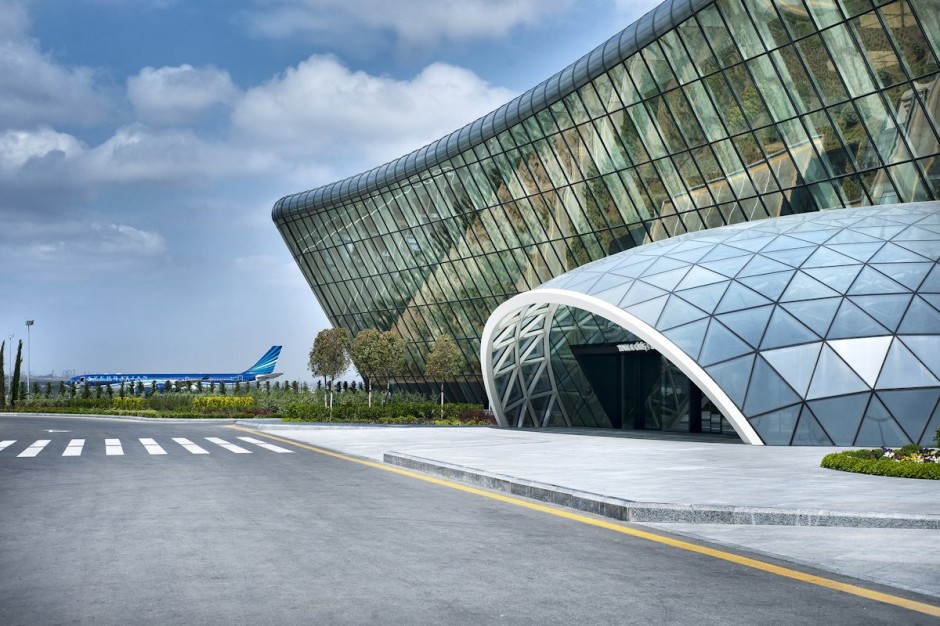
[[[311,380],[329,322],[274,203],[457,130],[656,4],[0,0],[0,339],[34,376],[240,371],[279,344]]]

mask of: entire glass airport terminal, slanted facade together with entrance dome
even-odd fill
[[[504,426],[930,443],[940,0],[673,0],[468,126],[287,196],[330,321]]]

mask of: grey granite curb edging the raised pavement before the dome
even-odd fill
[[[458,480],[540,502],[557,504],[621,522],[940,529],[940,515],[852,513],[819,509],[635,502],[548,483],[513,478],[441,461],[432,461],[400,452],[386,452],[383,460],[389,465],[441,478]]]

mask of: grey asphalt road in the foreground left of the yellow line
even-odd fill
[[[936,623],[224,425],[0,417],[0,447],[4,625]]]

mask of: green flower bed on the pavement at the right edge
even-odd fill
[[[940,480],[940,449],[909,444],[897,449],[848,450],[827,454],[820,465],[858,474]]]

